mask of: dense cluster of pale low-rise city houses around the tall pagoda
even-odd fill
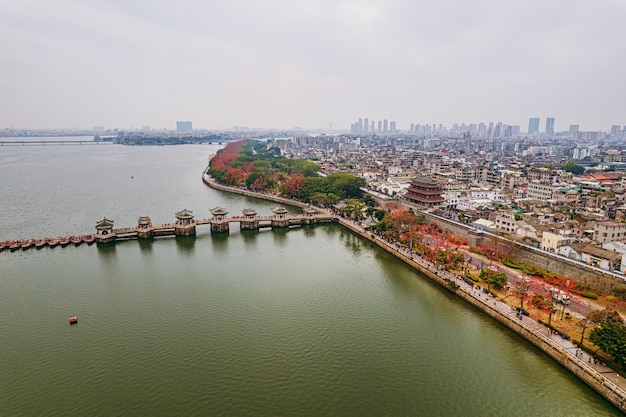
[[[379,197],[626,272],[626,150],[597,148],[593,160],[577,161],[587,169],[575,173],[557,169],[570,160],[566,150],[546,157],[527,152],[532,143],[455,139],[429,150],[419,139],[302,137],[277,144],[324,171],[365,178]]]

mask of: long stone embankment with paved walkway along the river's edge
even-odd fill
[[[203,175],[202,179],[208,186],[218,190],[275,201],[282,204],[308,207],[307,204],[300,201],[218,184],[206,174]],[[324,209],[319,210],[326,211]],[[519,315],[516,310],[512,310],[507,304],[483,293],[480,289],[475,288],[473,284],[466,283],[461,277],[439,269],[436,265],[420,258],[416,253],[409,251],[406,247],[389,242],[365,230],[351,220],[342,217],[339,217],[338,220],[344,227],[396,256],[434,282],[455,293],[459,298],[468,302],[473,307],[524,337],[601,394],[617,408],[626,412],[626,381],[618,374],[610,371],[609,368],[601,364],[592,364],[591,358],[585,357],[585,354],[581,354],[583,356],[580,356],[576,347],[569,340],[551,334],[546,327],[528,317]]]

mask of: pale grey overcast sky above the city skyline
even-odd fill
[[[626,125],[624,0],[0,0],[0,129]]]

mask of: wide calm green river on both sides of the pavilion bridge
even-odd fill
[[[202,183],[218,148],[0,147],[0,240],[270,214]],[[622,415],[339,225],[197,231],[0,253],[0,415]]]

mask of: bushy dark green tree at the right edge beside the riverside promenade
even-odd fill
[[[597,324],[589,340],[620,364],[626,363],[626,326],[619,313],[604,309],[589,313],[588,321],[589,316]]]

